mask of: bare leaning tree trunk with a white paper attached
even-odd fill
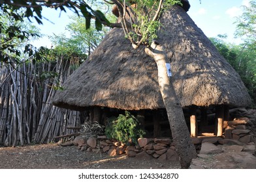
[[[197,157],[197,152],[185,123],[182,105],[171,83],[172,79],[167,75],[167,54],[165,53],[165,49],[163,49],[163,45],[159,45],[157,42],[153,42],[150,47],[146,47],[145,51],[157,64],[159,88],[165,108],[167,109],[174,145],[180,156],[182,168],[188,168],[191,160]]]

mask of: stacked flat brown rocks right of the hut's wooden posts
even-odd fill
[[[249,118],[238,118],[226,123],[225,139],[238,140],[240,142],[253,142],[253,133],[248,125]]]

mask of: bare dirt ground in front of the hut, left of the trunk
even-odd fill
[[[160,162],[128,158],[126,155],[109,157],[105,153],[80,151],[76,146],[42,144],[16,148],[0,147],[1,169],[133,169],[133,168],[180,168],[178,162]]]

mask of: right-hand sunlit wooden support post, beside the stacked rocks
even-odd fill
[[[223,122],[224,122],[224,106],[217,105],[216,106],[216,129],[215,135],[222,136],[223,135]]]

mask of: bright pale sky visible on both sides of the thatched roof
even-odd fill
[[[234,38],[236,25],[236,17],[242,14],[241,6],[248,6],[250,0],[189,0],[191,5],[187,14],[195,21],[195,24],[202,29],[208,37],[216,37],[218,34],[227,34],[227,42],[239,44],[240,39]],[[254,0],[255,1],[255,0]],[[52,42],[48,39],[48,35],[69,33],[65,31],[66,25],[70,22],[69,16],[72,12],[67,10],[59,12],[54,9],[46,8],[42,11],[42,15],[50,19],[44,19],[43,25],[38,25],[40,32],[45,36],[37,41],[32,42],[35,47],[46,46],[51,47]]]

